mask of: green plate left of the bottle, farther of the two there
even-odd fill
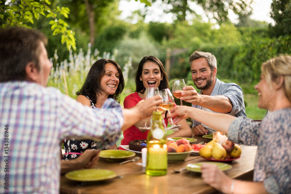
[[[99,153],[99,157],[106,158],[107,160],[111,160],[111,161],[122,160],[122,159],[130,158],[132,156],[135,156],[134,152],[127,151],[127,150],[119,150],[119,149],[102,150]]]

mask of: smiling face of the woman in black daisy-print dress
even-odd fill
[[[112,63],[107,63],[105,65],[105,74],[101,78],[101,86],[104,91],[102,95],[109,96],[116,92],[119,84],[119,72],[115,65]]]

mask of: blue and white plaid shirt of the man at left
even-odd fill
[[[100,148],[118,140],[122,109],[113,99],[102,108],[27,81],[0,83],[0,193],[58,193],[65,137],[91,138]]]

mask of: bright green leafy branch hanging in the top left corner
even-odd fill
[[[0,28],[6,28],[7,26],[31,28],[27,24],[34,24],[34,19],[38,20],[40,14],[47,18],[52,17],[49,24],[51,25],[53,35],[61,33],[61,43],[64,44],[66,42],[68,50],[71,47],[76,50],[74,32],[68,29],[68,23],[61,19],[62,16],[68,18],[70,13],[69,8],[59,6],[50,8],[51,2],[49,0],[40,0],[39,2],[33,0],[12,0],[11,2],[0,1],[0,3],[0,18],[3,19]]]

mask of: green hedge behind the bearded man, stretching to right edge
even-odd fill
[[[210,52],[217,58],[217,78],[238,83],[244,93],[256,94],[253,86],[260,80],[262,63],[281,54],[291,55],[291,35],[279,38],[249,38],[243,42],[232,46],[193,48],[189,53],[179,56],[180,63],[172,68],[171,78],[185,77],[185,72],[191,78],[188,64],[191,52]]]

